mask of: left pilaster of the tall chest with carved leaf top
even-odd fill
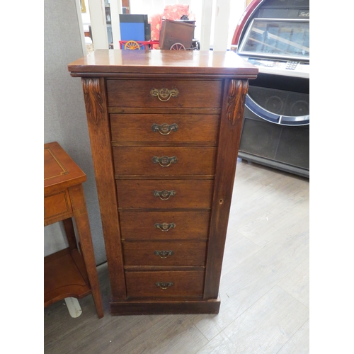
[[[107,113],[104,79],[82,79],[86,116],[89,125],[93,167],[95,169],[98,201],[100,202],[105,251],[112,276],[113,294],[118,299],[126,298],[120,227],[113,162],[111,159],[110,127]]]

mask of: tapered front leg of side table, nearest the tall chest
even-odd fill
[[[89,276],[93,301],[95,302],[98,318],[101,319],[103,317],[103,307],[100,287],[98,283],[95,255],[93,253],[93,244],[91,239],[89,216],[86,209],[84,189],[82,188],[81,184],[74,185],[73,187],[69,188],[69,194],[72,200],[76,231],[79,236],[87,275]]]

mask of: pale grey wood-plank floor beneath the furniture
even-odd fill
[[[309,179],[238,161],[217,315],[110,316],[98,275],[103,319],[45,308],[45,353],[309,353]]]

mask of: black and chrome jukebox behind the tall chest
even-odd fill
[[[309,0],[253,0],[232,45],[249,81],[239,157],[309,178]]]

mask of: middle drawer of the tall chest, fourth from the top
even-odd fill
[[[210,208],[212,180],[117,180],[120,209]]]

